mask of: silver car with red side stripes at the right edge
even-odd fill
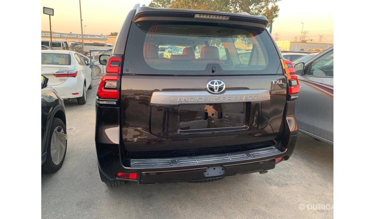
[[[294,69],[300,82],[295,108],[299,130],[333,144],[333,46]]]

